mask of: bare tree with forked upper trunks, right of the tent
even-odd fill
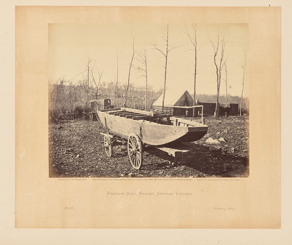
[[[210,36],[209,36],[209,38],[210,38]],[[220,35],[219,35],[219,30],[218,30],[217,45],[213,44],[211,38],[210,38],[210,41],[211,41],[213,49],[214,49],[214,64],[216,67],[216,75],[217,75],[217,98],[216,98],[216,108],[215,108],[214,117],[218,117],[219,116],[218,112],[219,112],[219,92],[220,92],[220,82],[221,82],[221,70],[223,68],[222,60],[223,60],[224,48],[225,48],[224,35],[223,35],[223,39],[220,40]],[[218,60],[216,60],[216,56],[217,56],[218,50],[219,50],[219,41],[220,41],[220,43],[222,43],[220,63],[218,62]],[[219,67],[218,67],[217,63],[219,63]]]

